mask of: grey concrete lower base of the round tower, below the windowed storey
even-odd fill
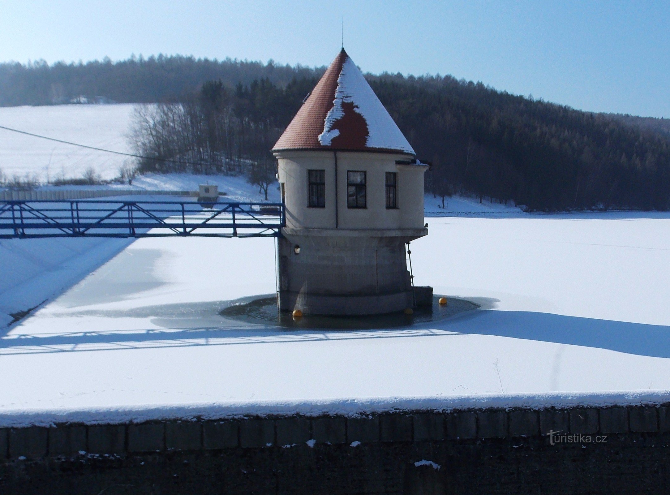
[[[405,243],[427,229],[282,230],[279,309],[316,315],[373,315],[414,304]]]

